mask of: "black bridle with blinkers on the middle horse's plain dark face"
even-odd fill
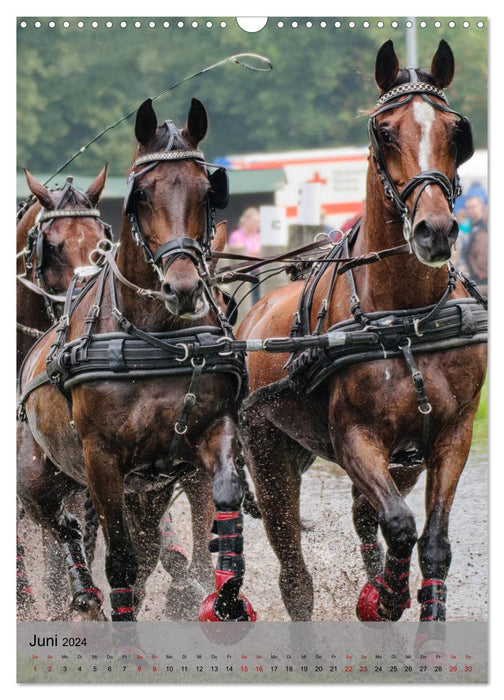
[[[200,150],[171,150],[175,142],[175,138],[178,136],[178,130],[169,120],[165,122],[165,127],[169,134],[168,144],[165,149],[156,153],[147,153],[140,156],[133,163],[132,171],[128,177],[126,187],[124,212],[129,216],[131,222],[131,233],[136,244],[142,248],[146,261],[152,265],[161,281],[164,281],[164,274],[166,273],[168,267],[170,267],[170,265],[172,265],[175,260],[180,257],[190,258],[200,272],[200,276],[207,278],[209,277],[209,273],[206,263],[208,260],[210,260],[211,242],[215,236],[215,210],[224,209],[228,204],[229,188],[227,172],[220,166],[213,163],[206,163],[205,156]],[[155,168],[161,162],[182,160],[192,160],[205,168],[217,168],[214,173],[209,173],[207,171],[207,177],[210,182],[210,192],[207,197],[206,229],[203,233],[203,239],[200,243],[193,238],[181,236],[171,241],[167,241],[153,252],[147,244],[138,217],[135,198],[135,182],[139,177]],[[134,172],[135,168],[141,165],[144,165],[145,167],[139,172]]]

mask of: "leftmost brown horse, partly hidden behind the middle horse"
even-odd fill
[[[98,202],[107,166],[87,192],[68,178],[61,189],[49,190],[26,172],[34,197],[20,209],[17,252],[17,369],[42,332],[57,320],[54,297],[64,295],[79,268],[90,265],[89,254],[109,227],[100,219]]]

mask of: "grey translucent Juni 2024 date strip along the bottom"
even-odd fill
[[[18,623],[20,683],[486,683],[486,623]]]

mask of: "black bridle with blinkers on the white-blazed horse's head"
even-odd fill
[[[379,138],[378,138],[378,124],[376,122],[376,117],[383,112],[395,109],[396,107],[403,107],[409,104],[415,95],[420,95],[422,99],[430,104],[435,109],[441,112],[447,112],[449,114],[454,114],[459,118],[459,124],[457,128],[457,135],[455,138],[457,146],[457,158],[456,166],[458,168],[461,163],[468,160],[474,153],[473,137],[471,124],[467,117],[462,116],[459,112],[455,112],[450,109],[448,105],[448,100],[442,90],[430,85],[429,83],[421,82],[416,74],[416,71],[409,69],[410,80],[407,83],[397,85],[393,87],[388,92],[384,93],[378,100],[375,111],[371,114],[368,121],[368,132],[369,139],[371,142],[371,147],[373,149],[373,158],[376,163],[376,169],[378,175],[381,179],[385,195],[390,199],[395,205],[401,220],[403,222],[403,234],[406,239],[410,252],[412,252],[412,224],[415,217],[416,209],[423,191],[429,185],[437,185],[441,188],[450,211],[453,211],[455,206],[455,200],[461,194],[462,190],[460,188],[460,180],[458,172],[455,174],[455,178],[450,180],[444,173],[439,170],[424,170],[418,175],[415,175],[402,189],[401,192],[398,191],[395,186],[390,173],[388,171],[383,152],[380,148]],[[434,95],[444,102],[440,104],[434,101],[430,95]],[[404,99],[403,99],[404,97]],[[446,105],[446,106],[445,106]],[[413,202],[411,210],[408,209],[406,205],[406,200],[411,195],[411,193],[418,189],[417,195]]]

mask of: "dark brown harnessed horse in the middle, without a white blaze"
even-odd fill
[[[193,493],[209,493],[213,482],[215,505],[202,495],[193,516],[205,526],[202,546],[214,517],[218,535],[218,591],[202,619],[253,617],[239,593],[244,359],[220,351],[229,328],[210,288],[211,251],[225,244],[215,208],[225,205],[227,181],[198,150],[206,130],[197,100],[182,130],[158,126],[151,100],[139,108],[120,245],[103,251],[103,272],[67,300],[20,379],[20,498],[61,543],[73,605],[91,619],[102,616],[102,597],[79,524],[62,504],[71,483],[87,485],[103,527],[112,619],[131,620],[159,558],[161,516],[184,474]]]

